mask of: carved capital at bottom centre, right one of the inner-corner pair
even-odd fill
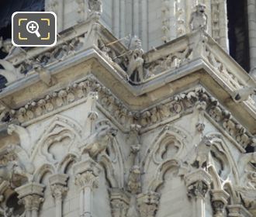
[[[137,205],[141,217],[154,217],[156,215],[161,195],[154,191],[137,195]]]

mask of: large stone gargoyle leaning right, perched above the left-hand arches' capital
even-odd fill
[[[112,138],[116,136],[116,133],[117,130],[109,125],[101,126],[95,133],[88,137],[84,152],[88,153],[92,158],[97,157],[99,153],[106,150],[106,147]]]

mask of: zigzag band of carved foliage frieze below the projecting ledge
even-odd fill
[[[227,136],[230,136],[235,143],[239,144],[241,151],[247,145],[254,143],[251,133],[200,85],[165,99],[150,108],[134,111],[127,108],[92,75],[88,75],[82,81],[70,84],[67,88],[54,91],[37,101],[29,102],[19,109],[11,110],[12,121],[17,120],[22,126],[28,126],[40,119],[85,102],[91,91],[97,91],[99,94],[97,108],[109,119],[112,119],[123,132],[129,132],[130,124],[137,123],[142,126],[140,133],[145,133],[157,126],[172,122],[182,115],[192,113],[197,102],[205,102],[206,117],[220,130],[226,132]]]

